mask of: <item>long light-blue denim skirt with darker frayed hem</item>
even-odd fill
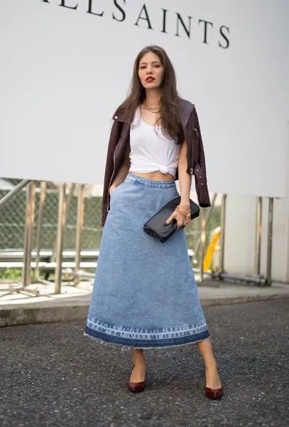
[[[131,172],[111,193],[84,335],[135,348],[209,337],[184,228],[164,243],[143,224],[179,196],[175,180]]]

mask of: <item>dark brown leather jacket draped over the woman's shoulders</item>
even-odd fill
[[[192,102],[181,99],[182,125],[187,142],[187,173],[195,175],[195,188],[197,199],[201,207],[211,206],[207,189],[207,176],[205,165],[205,153],[202,144],[199,120],[195,105]],[[118,107],[114,112],[114,123],[111,127],[109,145],[107,149],[107,162],[104,172],[104,191],[102,196],[102,226],[104,226],[109,211],[109,187],[116,174],[119,172],[124,154],[129,144],[130,124],[127,121],[124,108]],[[178,168],[175,180],[178,179]]]

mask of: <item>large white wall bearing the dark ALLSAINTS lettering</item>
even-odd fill
[[[287,0],[148,0],[151,28],[143,1],[59,4],[1,1],[0,176],[102,184],[111,116],[155,43],[197,106],[209,190],[286,196]]]

